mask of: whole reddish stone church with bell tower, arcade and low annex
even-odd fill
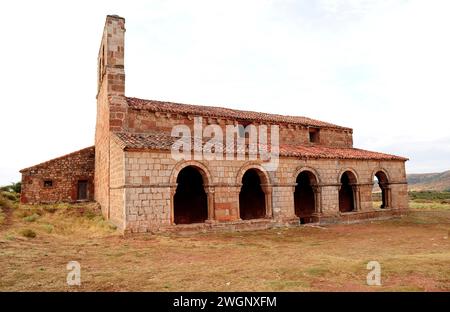
[[[98,54],[95,146],[21,170],[22,203],[96,201],[124,233],[350,222],[408,209],[407,159],[354,148],[350,128],[125,96],[124,34],[125,20],[107,16]],[[175,159],[172,129],[192,129],[198,117],[204,126],[235,127],[244,140],[249,136],[240,129],[250,124],[278,126],[276,170],[245,151],[233,159]]]

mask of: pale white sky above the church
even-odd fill
[[[450,1],[2,1],[0,185],[93,145],[107,14],[126,94],[302,115],[355,147],[450,169]]]

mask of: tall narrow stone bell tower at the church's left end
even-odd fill
[[[106,17],[97,57],[97,121],[95,126],[95,200],[110,216],[110,141],[112,132],[126,129],[125,19]]]

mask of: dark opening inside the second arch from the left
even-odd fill
[[[242,220],[260,219],[266,216],[266,196],[261,187],[261,178],[257,169],[247,170],[242,177],[239,215]]]

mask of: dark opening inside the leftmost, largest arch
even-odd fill
[[[208,219],[208,199],[199,169],[187,166],[178,173],[173,205],[175,224],[201,223]]]

